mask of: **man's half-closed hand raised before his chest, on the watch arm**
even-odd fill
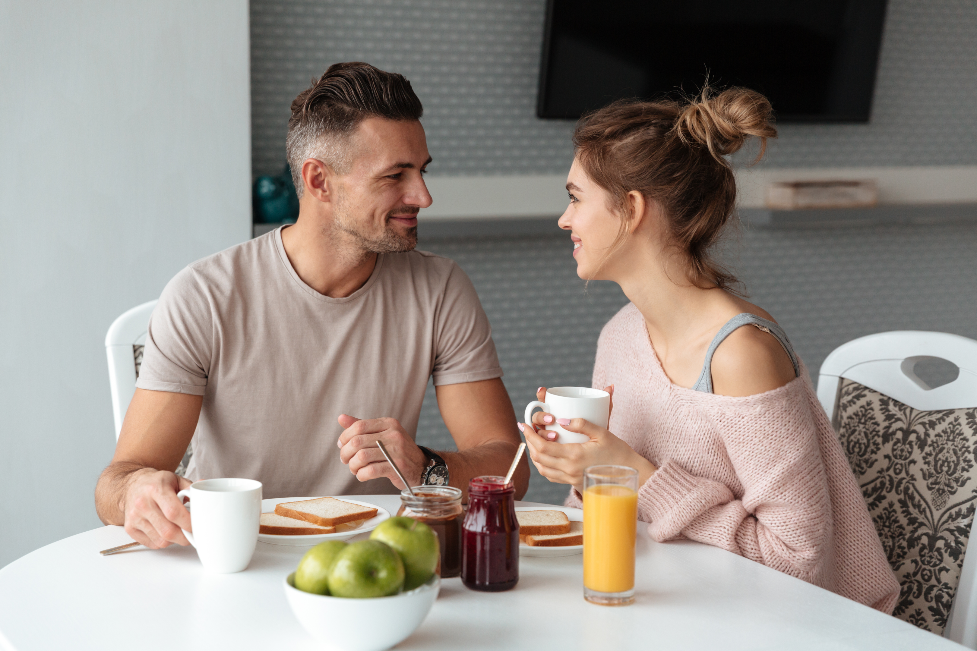
[[[344,464],[349,465],[350,472],[357,475],[357,479],[369,481],[388,477],[402,491],[406,488],[377,447],[376,442],[379,440],[383,441],[383,446],[393,457],[394,463],[401,468],[404,478],[413,482],[413,486],[421,483],[421,475],[428,466],[428,458],[396,419],[375,418],[361,421],[341,414],[339,425],[345,427],[336,443],[340,448],[339,457]]]

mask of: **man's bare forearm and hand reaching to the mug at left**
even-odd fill
[[[106,524],[119,524],[150,548],[187,545],[190,515],[177,499],[190,485],[180,465],[200,416],[199,395],[137,388],[126,411],[111,464],[95,487],[95,508]]]

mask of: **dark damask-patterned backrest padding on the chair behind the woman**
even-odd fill
[[[942,634],[977,506],[977,408],[918,411],[842,379],[834,427],[902,585],[893,615]]]

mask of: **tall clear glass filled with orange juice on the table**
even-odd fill
[[[583,598],[604,606],[634,603],[638,471],[591,466],[583,471]]]

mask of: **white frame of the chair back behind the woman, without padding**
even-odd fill
[[[914,367],[938,357],[956,364],[956,380],[931,388]],[[821,365],[818,399],[833,419],[842,378],[883,393],[913,409],[939,411],[977,406],[977,342],[942,332],[894,331],[869,335],[835,348]],[[969,538],[969,542],[973,537]],[[944,637],[977,649],[977,551],[965,553]]]

